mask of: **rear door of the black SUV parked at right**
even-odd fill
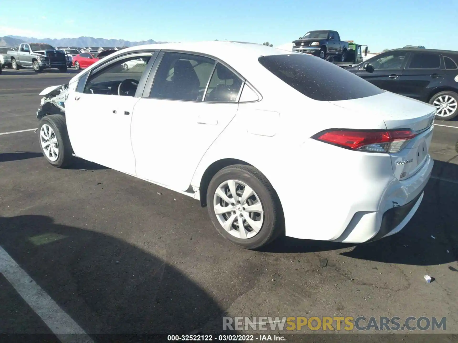
[[[431,90],[441,85],[444,75],[440,53],[412,53],[398,80],[399,94],[428,101]]]

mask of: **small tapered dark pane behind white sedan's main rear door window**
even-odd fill
[[[229,68],[218,63],[208,84],[204,101],[237,102],[242,82]]]

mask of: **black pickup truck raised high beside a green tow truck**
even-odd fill
[[[322,59],[330,55],[338,57],[337,60],[341,62],[345,61],[348,51],[348,42],[341,41],[339,33],[332,30],[309,31],[293,43],[293,51],[313,54]]]

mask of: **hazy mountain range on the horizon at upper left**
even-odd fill
[[[5,36],[0,37],[0,46],[6,47],[17,47],[21,43],[47,43],[53,47],[133,47],[136,45],[143,44],[156,44],[156,43],[167,43],[167,42],[156,42],[153,39],[147,41],[131,42],[125,41],[124,39],[104,39],[104,38],[93,38],[93,37],[78,37],[78,38],[62,38],[62,39],[51,39],[51,38],[33,38],[33,37],[22,37],[22,36]]]

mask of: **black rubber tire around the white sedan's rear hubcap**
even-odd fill
[[[218,221],[214,211],[213,197],[221,183],[227,180],[239,180],[250,186],[262,203],[264,222],[258,233],[251,237],[241,239],[229,234]],[[210,219],[216,230],[228,241],[245,249],[263,247],[284,233],[283,209],[278,195],[267,178],[252,166],[233,165],[218,171],[210,181],[207,189],[207,206]]]

